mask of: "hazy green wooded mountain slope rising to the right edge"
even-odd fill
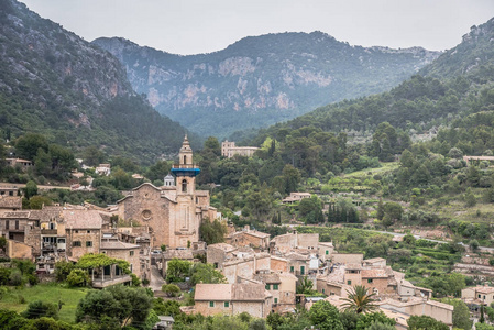
[[[369,142],[378,125],[388,122],[410,135],[424,139],[420,134],[426,133],[430,139],[441,127],[455,128],[463,118],[494,110],[493,41],[491,19],[472,28],[459,45],[389,91],[327,105],[243,138],[260,145],[267,136],[286,141],[290,135],[309,138],[314,131],[344,131],[349,140]],[[237,141],[241,138],[238,135]],[[473,153],[474,148],[462,150]]]

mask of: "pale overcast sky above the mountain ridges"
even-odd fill
[[[174,54],[276,32],[322,31],[351,45],[448,50],[494,16],[494,0],[21,0],[87,41],[121,36]]]

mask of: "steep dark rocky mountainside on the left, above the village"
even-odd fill
[[[0,130],[152,162],[186,130],[135,91],[120,62],[23,3],[0,1]],[[195,138],[193,138],[194,140]]]

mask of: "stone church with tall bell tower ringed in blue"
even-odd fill
[[[193,150],[184,139],[178,164],[164,179],[164,186],[145,183],[118,201],[120,219],[138,221],[151,237],[151,246],[186,248],[199,241],[201,221],[217,218],[209,205],[209,191],[196,190],[196,176],[200,168],[194,164]]]

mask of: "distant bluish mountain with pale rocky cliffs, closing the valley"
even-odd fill
[[[92,43],[120,59],[133,88],[161,113],[220,138],[387,90],[439,55],[420,47],[351,46],[321,32],[250,36],[189,56],[118,37]]]

